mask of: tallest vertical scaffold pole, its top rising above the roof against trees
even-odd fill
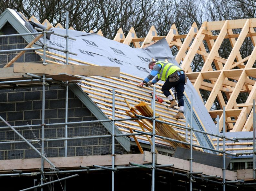
[[[69,64],[69,12],[66,11],[66,64]],[[68,92],[69,92],[69,83],[66,81],[66,100],[65,100],[65,123],[68,122]],[[68,125],[65,125],[65,138],[68,138]],[[68,140],[65,140],[65,157],[68,155]],[[64,181],[64,191],[66,191],[66,180]]]

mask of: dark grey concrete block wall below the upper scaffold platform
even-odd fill
[[[45,123],[65,121],[65,87],[51,86],[45,91]],[[42,124],[42,87],[0,90],[0,115],[12,126]],[[69,91],[68,122],[97,120],[82,102]],[[0,122],[0,127],[6,127]],[[26,139],[41,139],[42,127],[17,128]],[[68,137],[108,135],[100,124],[68,125]],[[46,126],[45,138],[64,138],[64,125]],[[11,129],[0,129],[0,141],[22,140]],[[41,142],[39,142],[41,144]],[[38,142],[32,144],[41,150]],[[64,156],[64,141],[45,142],[48,157]],[[116,151],[125,153],[116,141]],[[111,152],[111,137],[77,139],[68,141],[68,156],[101,155]],[[26,143],[0,144],[0,160],[37,158],[39,155]]]

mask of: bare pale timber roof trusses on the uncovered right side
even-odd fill
[[[151,27],[145,38],[136,38],[133,28],[131,28],[127,37],[124,37],[122,30],[119,29],[114,40],[127,45],[133,43],[137,48],[144,48],[161,38],[166,38],[170,47],[177,47],[178,53],[176,54],[175,60],[178,63],[182,61],[181,67],[187,72],[187,76],[194,84],[194,88],[197,90],[199,96],[201,96],[199,89],[211,92],[207,98],[205,107],[213,118],[220,115],[219,131],[223,127],[223,110],[212,110],[215,98],[218,99],[222,109],[225,106],[225,122],[231,132],[251,131],[253,123],[252,100],[256,98],[256,86],[254,86],[256,69],[253,68],[256,59],[255,27],[256,19],[205,21],[200,29],[193,23],[188,34],[185,35],[178,34],[175,24],[172,25],[167,36],[162,37],[156,35],[154,26]],[[241,29],[241,32],[234,34],[232,29]],[[155,32],[153,33],[153,31]],[[218,35],[213,35],[213,31],[220,32]],[[134,33],[133,37],[131,37],[132,35],[130,33]],[[246,37],[250,37],[254,49],[251,55],[242,58],[240,48]],[[184,39],[183,43],[181,38]],[[224,39],[229,39],[230,45],[232,46],[232,51],[228,58],[222,58],[218,53]],[[142,42],[142,45],[135,45],[137,42]],[[206,42],[210,50],[209,52],[206,51],[207,48],[204,46],[204,42]],[[204,65],[201,71],[192,72],[191,63],[196,54],[202,56]],[[247,62],[246,65],[244,62]],[[212,63],[214,63],[216,70],[213,69]],[[252,78],[249,78],[249,76]],[[210,83],[205,82],[204,79],[210,80]],[[227,103],[221,92],[226,94],[228,98]],[[245,103],[237,104],[236,99],[242,92],[247,92],[249,96]]]

